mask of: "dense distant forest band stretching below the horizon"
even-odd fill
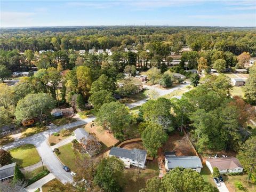
[[[256,55],[256,34],[252,28],[218,27],[87,27],[87,28],[28,28],[2,29],[1,49],[25,50],[89,50],[126,47],[133,44],[141,49],[147,43],[169,44],[178,52],[182,46],[194,51],[243,51]]]

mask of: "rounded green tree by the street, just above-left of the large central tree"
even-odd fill
[[[107,90],[100,90],[91,94],[88,101],[92,103],[94,109],[98,111],[104,103],[110,103],[112,101],[115,101],[115,99],[112,94]]]

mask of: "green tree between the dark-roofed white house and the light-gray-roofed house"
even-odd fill
[[[155,157],[158,148],[162,147],[168,137],[161,125],[151,122],[142,132],[141,139],[143,146],[147,149],[149,155]]]

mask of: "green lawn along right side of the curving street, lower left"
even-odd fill
[[[71,171],[76,172],[76,158],[81,157],[82,155],[72,149],[72,143],[59,147],[59,150],[60,155],[58,155],[58,157],[60,158],[60,161],[68,166]]]

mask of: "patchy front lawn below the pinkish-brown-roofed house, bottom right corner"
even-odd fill
[[[241,190],[236,189],[235,187],[235,182],[236,181],[241,181],[242,185],[245,187],[244,191],[248,192],[254,192],[256,191],[256,185],[252,183],[247,183],[247,174],[243,175],[228,175],[228,176],[223,176],[224,182],[229,190],[229,192],[238,192]]]

